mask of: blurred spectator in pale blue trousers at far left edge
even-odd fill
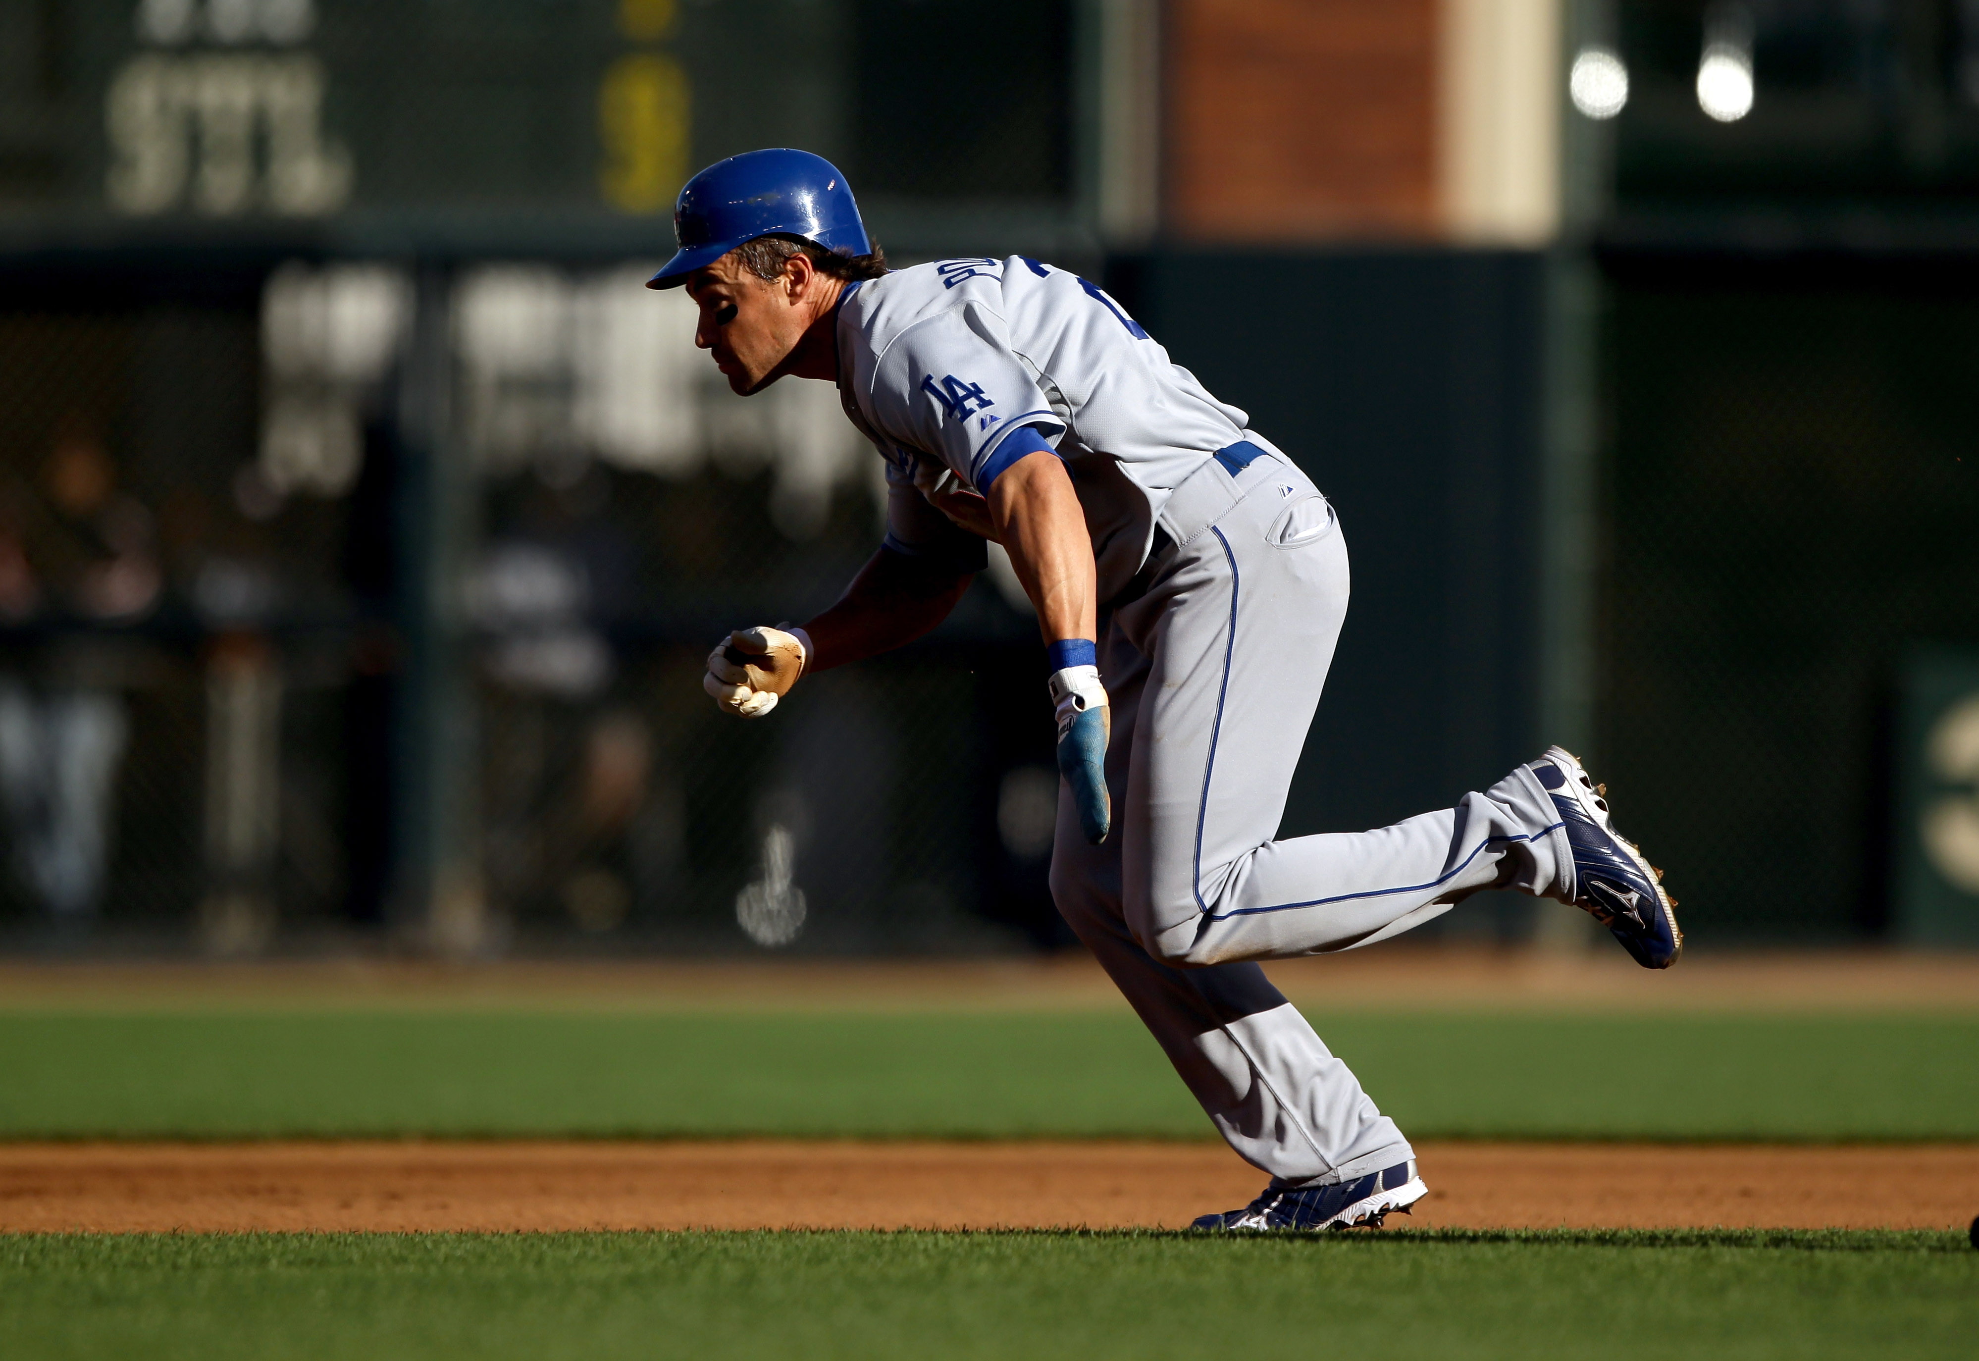
[[[59,427],[40,483],[40,495],[12,489],[0,526],[0,615],[55,625],[0,675],[0,803],[18,874],[53,918],[77,922],[103,898],[129,738],[129,659],[95,629],[148,615],[162,576],[152,516],[119,493],[91,423]]]

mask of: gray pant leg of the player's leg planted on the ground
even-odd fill
[[[1148,663],[1118,629],[1104,633],[1100,667],[1114,708],[1106,773],[1118,803]],[[1280,1185],[1352,1179],[1413,1157],[1395,1124],[1261,967],[1178,969],[1142,950],[1122,914],[1120,861],[1120,839],[1086,845],[1071,799],[1061,797],[1051,855],[1059,912],[1237,1155]]]

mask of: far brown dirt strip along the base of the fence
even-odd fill
[[[1356,1011],[1959,1011],[1979,1009],[1979,952],[1704,953],[1668,973],[1591,952],[1399,942],[1282,959],[1302,1007]],[[315,959],[251,963],[0,961],[0,1009],[526,1007],[635,1011],[1126,1009],[1083,952],[1017,959]]]

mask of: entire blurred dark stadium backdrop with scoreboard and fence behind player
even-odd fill
[[[770,144],[1336,500],[1286,833],[1557,740],[1698,946],[1979,944],[1973,0],[4,0],[0,946],[1069,940],[1007,570],[701,692],[879,540],[835,394],[639,287]]]

